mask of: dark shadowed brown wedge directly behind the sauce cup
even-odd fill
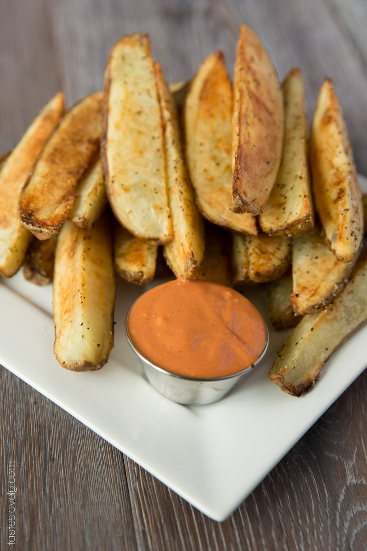
[[[233,286],[231,234],[210,222],[205,224],[205,255],[198,279]]]

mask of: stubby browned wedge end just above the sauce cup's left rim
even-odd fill
[[[114,266],[129,283],[149,283],[156,271],[157,245],[139,241],[118,222],[114,229]]]

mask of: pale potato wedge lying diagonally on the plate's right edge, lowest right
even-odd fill
[[[277,355],[270,380],[301,396],[320,376],[333,352],[367,320],[367,255],[358,260],[349,283],[324,310],[304,316]]]

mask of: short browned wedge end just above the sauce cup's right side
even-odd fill
[[[291,265],[292,241],[287,237],[250,235],[247,241],[251,281],[267,283],[281,277]]]

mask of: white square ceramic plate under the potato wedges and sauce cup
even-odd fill
[[[367,190],[367,180],[361,184]],[[143,289],[118,280],[115,345],[101,370],[73,373],[53,355],[52,288],[18,273],[0,284],[0,363],[217,521],[227,518],[367,365],[367,326],[327,362],[313,391],[288,396],[269,381],[291,331],[270,328],[264,361],[221,402],[187,407],[159,396],[125,341]],[[261,291],[245,293],[265,318]],[[277,423],[273,419],[283,419]]]

